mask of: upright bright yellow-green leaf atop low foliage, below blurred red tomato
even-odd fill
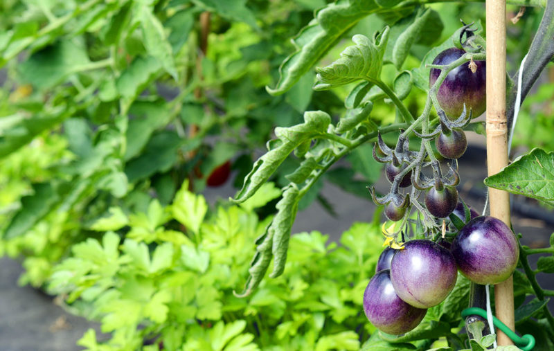
[[[183,182],[181,189],[175,194],[171,205],[173,217],[193,233],[199,233],[200,224],[208,211],[208,204],[202,195],[195,195],[188,191],[188,179]]]

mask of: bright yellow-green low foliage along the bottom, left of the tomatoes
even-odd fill
[[[355,224],[343,234],[342,247],[319,232],[293,235],[285,264],[289,273],[240,299],[233,289],[244,282],[251,240],[266,231],[271,218],[259,220],[251,210],[221,206],[198,228],[173,231],[168,227],[177,219],[174,214],[185,223],[195,223],[199,214],[172,208],[183,206],[184,199],[205,201],[187,186],[168,207],[154,200],[148,213],[127,215],[126,238],[122,231],[107,231],[100,241],[89,238],[53,269],[48,291],[64,294],[73,311],[98,318],[102,332],[111,333],[99,342],[89,330],[79,345],[119,350],[154,339],[169,350],[359,349],[368,324],[359,313],[361,294],[380,251],[370,244],[381,236],[377,225]],[[274,197],[266,194],[258,195],[257,206]],[[93,227],[120,226],[120,210],[111,213]],[[130,235],[143,231],[139,216],[157,232],[150,245]]]

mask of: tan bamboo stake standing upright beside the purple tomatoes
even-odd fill
[[[506,0],[486,0],[487,33],[487,167],[496,174],[508,165],[508,123],[506,120]],[[508,192],[489,188],[490,215],[510,225]],[[510,277],[494,287],[496,316],[515,330],[514,289]],[[497,331],[499,345],[513,345]]]

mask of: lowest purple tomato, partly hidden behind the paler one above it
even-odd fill
[[[371,278],[364,291],[364,312],[377,329],[398,335],[417,327],[427,309],[413,307],[400,299],[391,283],[390,271],[384,269]]]

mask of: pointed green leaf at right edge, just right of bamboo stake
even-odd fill
[[[485,185],[544,201],[554,200],[554,152],[539,148],[519,156],[499,173],[485,179]]]

